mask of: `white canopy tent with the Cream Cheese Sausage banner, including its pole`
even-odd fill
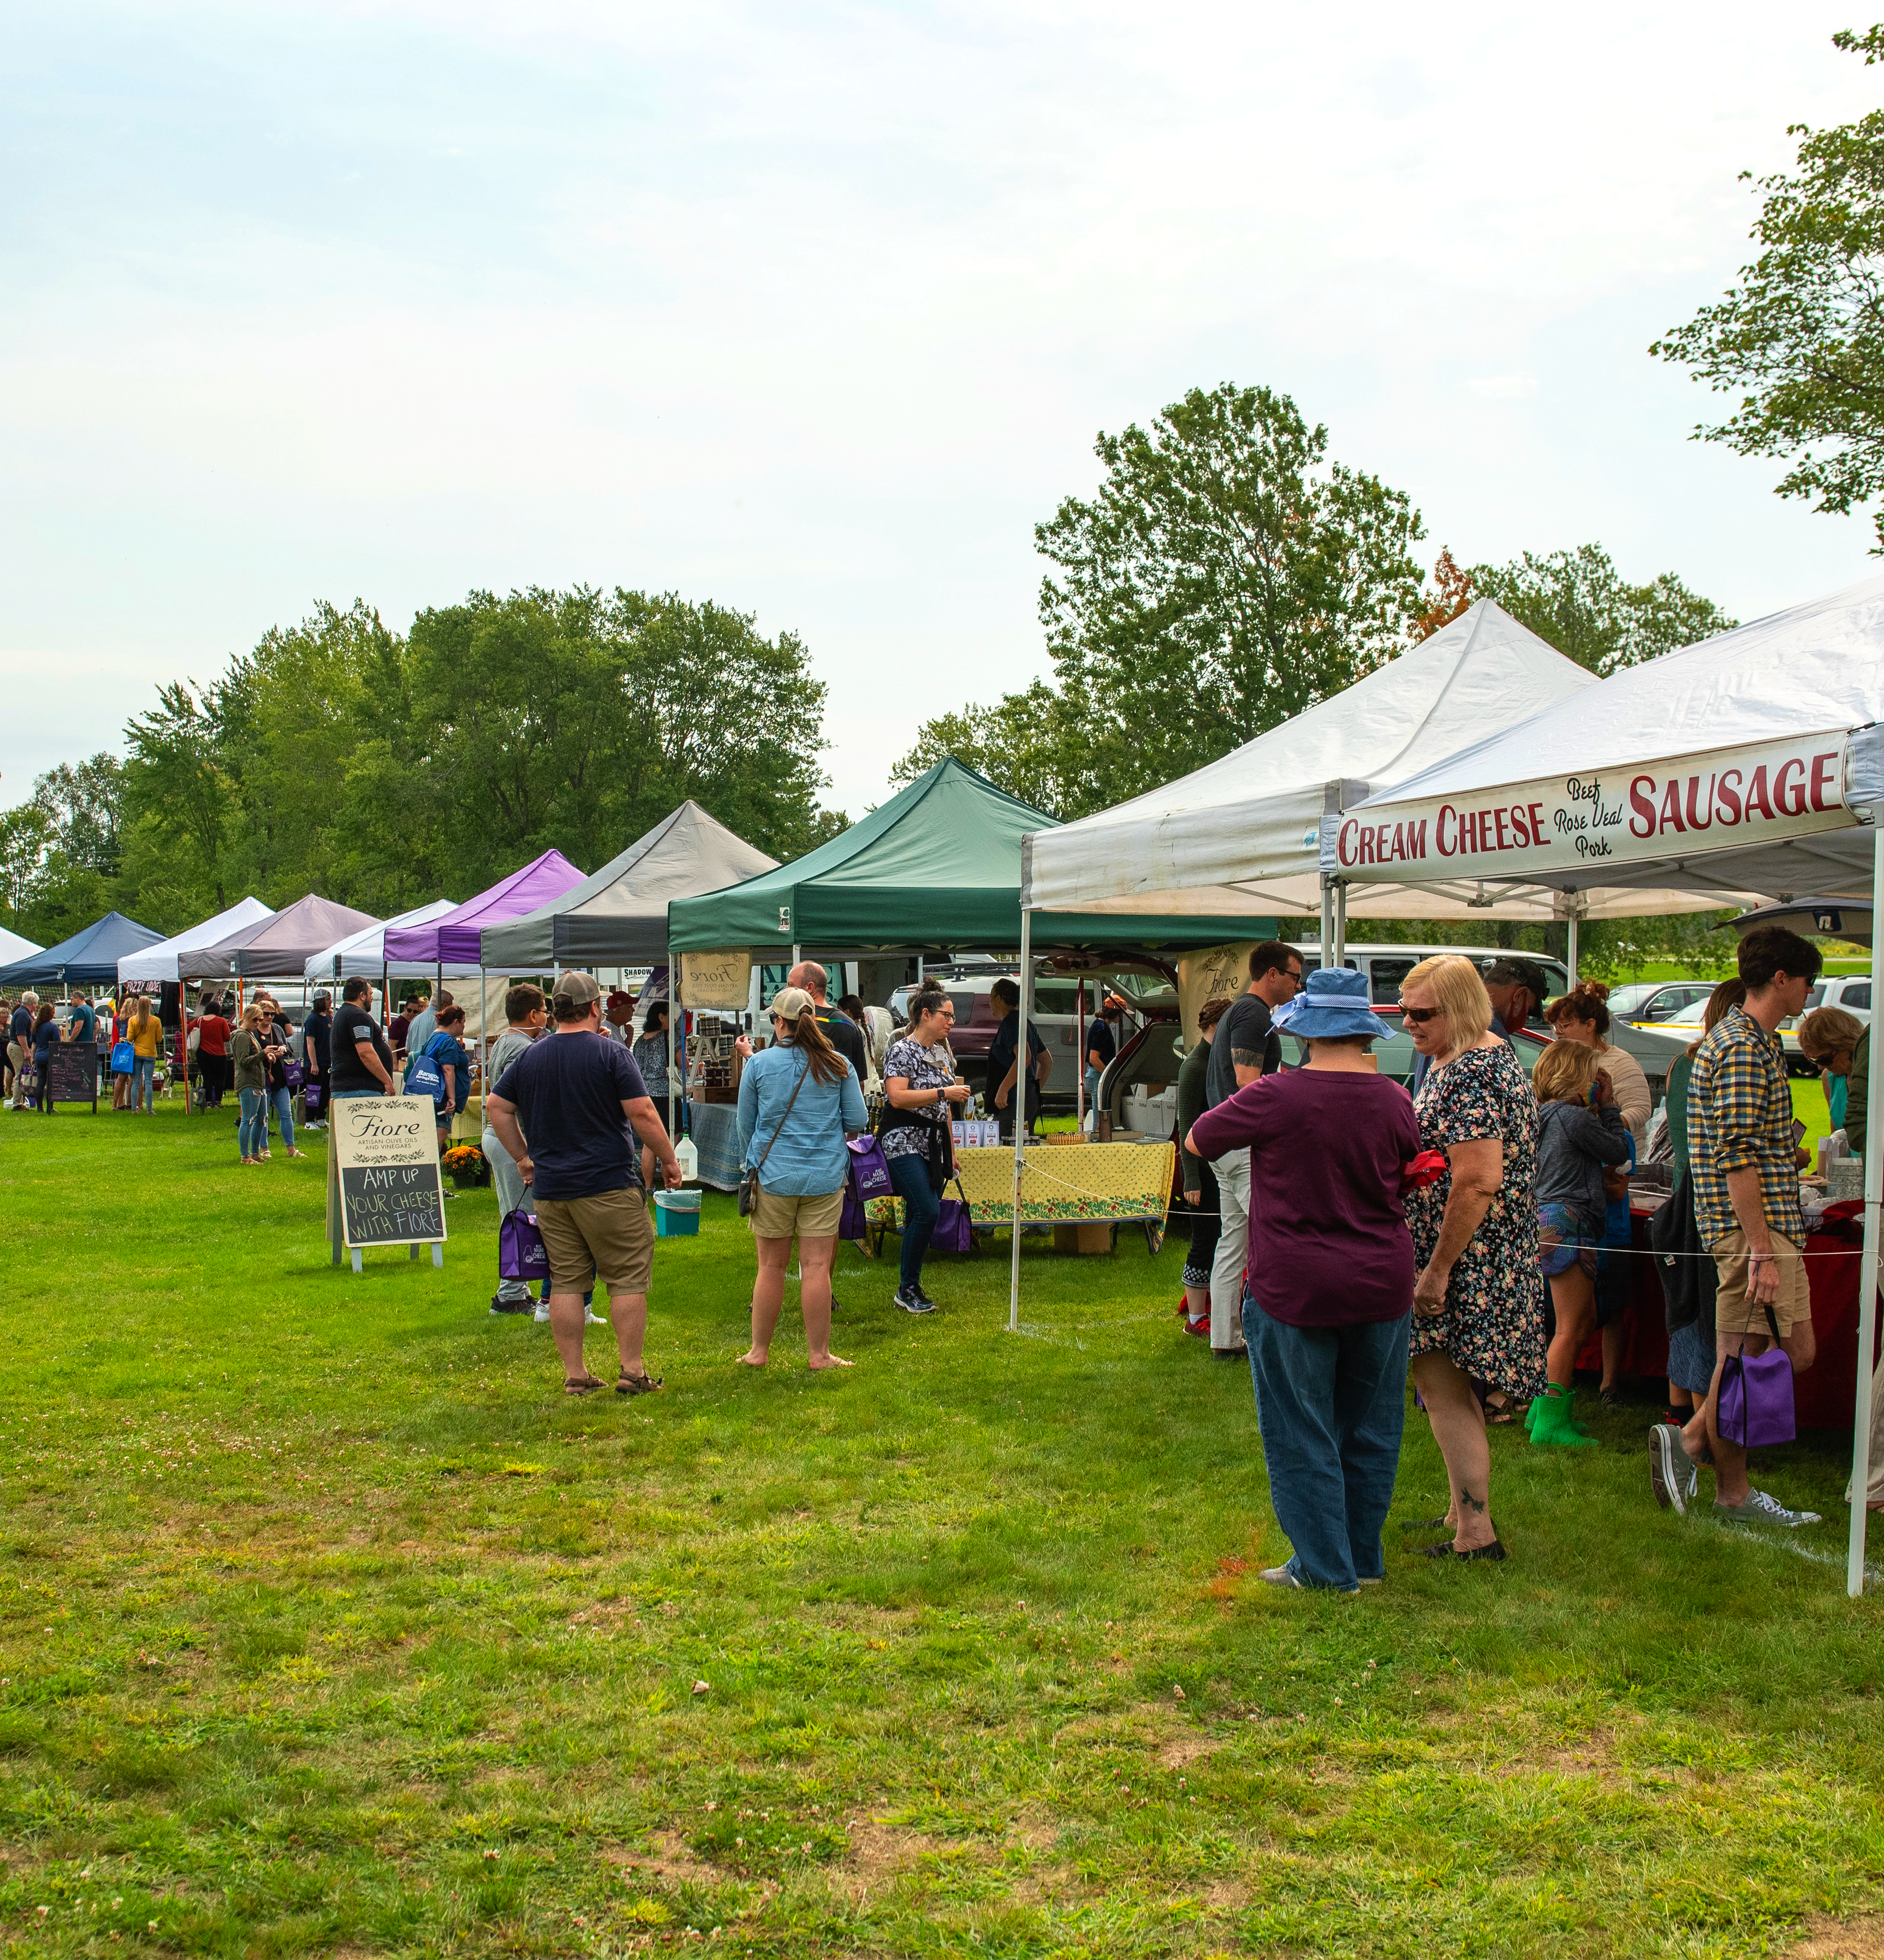
[[[1322,821],[1322,870],[1371,894],[1723,888],[1884,906],[1884,578],[1596,682]],[[1649,907],[1639,907],[1649,909]],[[1884,1094],[1884,1045],[1870,1054]],[[1884,1145],[1864,1152],[1847,1582],[1864,1586]]]

